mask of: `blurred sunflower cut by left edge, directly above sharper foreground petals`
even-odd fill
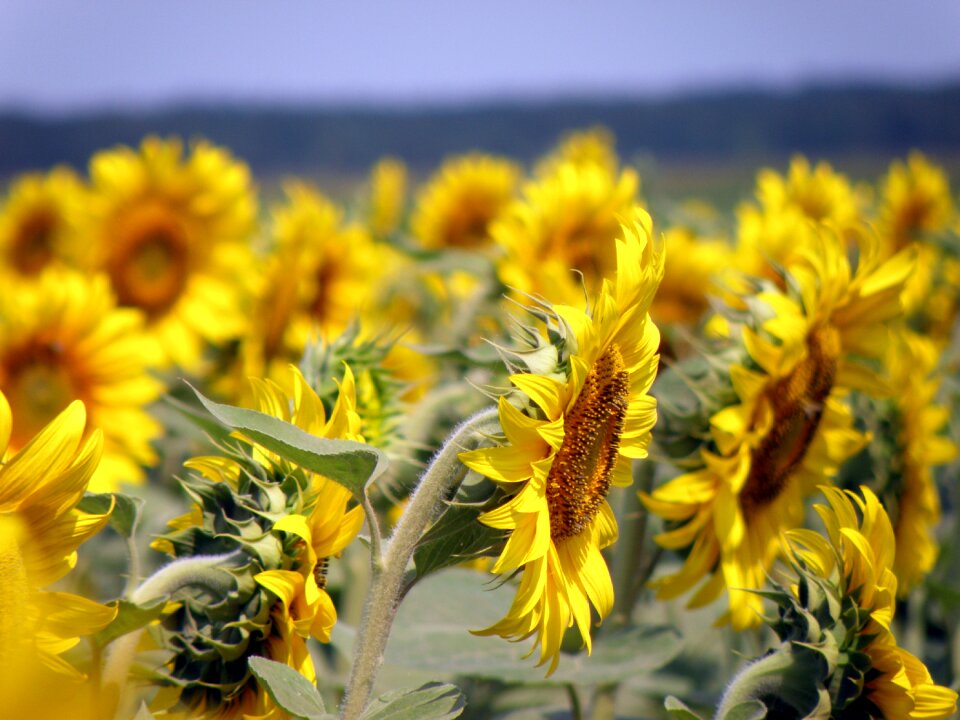
[[[11,281],[0,296],[0,390],[14,408],[11,447],[24,447],[79,399],[88,430],[103,432],[91,490],[141,482],[160,434],[145,410],[163,389],[149,373],[154,351],[141,314],[114,305],[103,275],[50,269],[35,281]]]

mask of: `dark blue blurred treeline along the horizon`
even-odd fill
[[[803,152],[902,154],[960,148],[960,83],[811,87],[664,99],[489,102],[458,108],[230,105],[68,117],[0,111],[0,174],[84,167],[97,149],[150,133],[205,137],[259,174],[365,171],[383,155],[415,170],[477,149],[530,160],[566,130],[602,124],[624,157],[725,161]]]

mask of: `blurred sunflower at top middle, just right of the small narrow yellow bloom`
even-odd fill
[[[420,190],[410,229],[426,248],[478,249],[490,244],[490,223],[513,199],[519,168],[478,153],[447,160]]]

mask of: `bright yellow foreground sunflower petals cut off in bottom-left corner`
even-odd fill
[[[43,588],[77,562],[77,548],[110,513],[77,510],[100,459],[102,435],[85,432],[83,403],[74,401],[12,452],[10,406],[0,393],[0,696],[4,707],[37,701],[42,686],[83,675],[60,656],[81,636],[117,614],[91,600]],[[23,683],[23,684],[22,684]],[[32,700],[26,697],[38,693]]]

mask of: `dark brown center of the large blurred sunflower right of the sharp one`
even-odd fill
[[[827,325],[813,331],[807,337],[807,356],[767,388],[764,400],[773,423],[751,455],[750,474],[740,492],[746,511],[776,500],[806,457],[833,390],[840,350],[836,328]]]

